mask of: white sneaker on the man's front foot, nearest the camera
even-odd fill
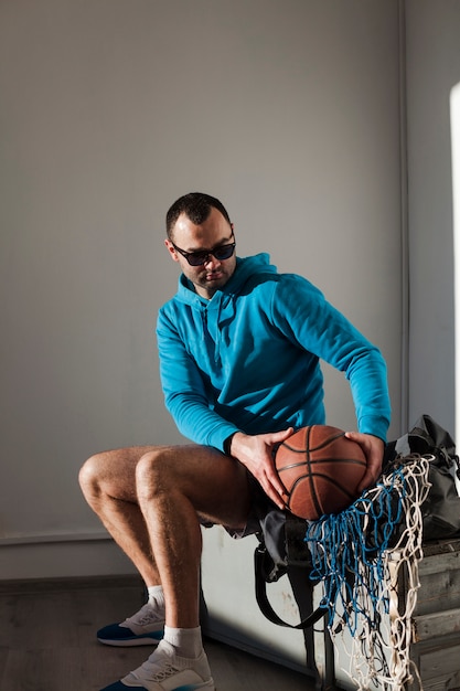
[[[215,691],[206,653],[202,651],[196,659],[181,658],[165,640],[138,669],[101,691],[127,691],[127,688],[141,691]]]

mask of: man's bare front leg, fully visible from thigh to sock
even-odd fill
[[[137,467],[137,495],[167,603],[167,625],[199,626],[199,515],[244,528],[249,511],[246,470],[202,446],[159,447]]]

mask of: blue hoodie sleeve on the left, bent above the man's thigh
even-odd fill
[[[224,451],[225,440],[238,432],[213,410],[212,392],[174,325],[160,310],[157,322],[160,378],[164,403],[179,432],[185,437]]]

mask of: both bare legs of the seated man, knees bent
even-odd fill
[[[203,446],[138,446],[97,454],[79,474],[83,493],[146,585],[162,585],[169,626],[197,626],[199,517],[243,528],[246,471]]]

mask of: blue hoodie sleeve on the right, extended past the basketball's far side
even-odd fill
[[[278,284],[272,318],[288,339],[344,373],[359,432],[386,440],[391,404],[379,350],[299,276],[285,275]]]

